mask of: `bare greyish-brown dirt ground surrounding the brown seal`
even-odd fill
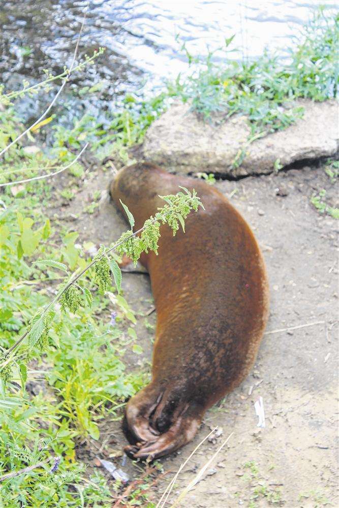
[[[86,176],[72,202],[55,197],[54,212],[61,220],[73,221],[81,240],[108,244],[125,230],[124,221],[105,198],[110,179],[110,170],[99,168]],[[69,176],[59,183],[72,187]],[[207,412],[191,443],[160,461],[172,473],[158,483],[153,500],[159,500],[183,460],[218,426],[221,435],[202,444],[180,473],[165,506],[171,506],[231,432],[225,448],[181,507],[337,506],[337,222],[310,203],[314,192],[326,188],[330,204],[338,206],[337,189],[321,165],[218,181],[215,186],[248,220],[261,245],[270,282],[270,317],[251,375]],[[287,195],[277,195],[278,188]],[[103,191],[99,209],[83,212],[98,189]],[[148,276],[126,273],[123,287],[131,307],[146,313],[151,307]],[[149,369],[155,320],[155,313],[139,317],[136,331],[144,355],[129,356],[131,369]],[[281,331],[271,333],[275,330]],[[257,427],[254,409],[259,396],[266,415],[262,429]],[[101,452],[80,447],[78,457],[94,467],[96,454],[107,458],[111,449],[125,444],[120,423],[106,422],[96,445],[103,445]],[[121,457],[110,460],[120,466]],[[132,478],[139,474],[129,459],[124,469]]]

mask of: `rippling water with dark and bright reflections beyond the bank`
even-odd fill
[[[321,4],[337,7],[316,0],[3,0],[3,82],[9,91],[19,89],[23,78],[40,81],[43,69],[62,72],[71,63],[87,10],[78,56],[99,46],[107,50],[86,72],[72,77],[63,96],[68,99],[60,106],[95,113],[99,100],[101,109],[114,108],[126,92],[143,96],[185,72],[182,42],[191,53],[203,55],[235,34],[232,47],[238,49],[230,58],[253,58],[265,47],[287,55],[286,48],[297,43],[300,28]],[[99,94],[81,98],[74,92],[71,99],[72,89],[98,81],[103,81]],[[44,94],[25,100],[25,116],[29,111],[34,117],[47,103]]]

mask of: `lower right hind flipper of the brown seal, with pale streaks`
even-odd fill
[[[134,459],[158,459],[178,450],[195,436],[200,425],[200,418],[182,415],[173,425],[159,436],[146,442],[139,442],[135,446],[125,447],[127,455]]]

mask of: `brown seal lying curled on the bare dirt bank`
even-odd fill
[[[206,409],[238,386],[258,352],[268,314],[268,284],[258,243],[242,216],[202,180],[152,164],[122,169],[111,196],[135,217],[135,231],[164,206],[159,195],[196,189],[192,211],[173,238],[161,227],[159,255],[142,254],[157,309],[152,380],[130,399],[125,432],[134,458],[167,455],[189,442]]]

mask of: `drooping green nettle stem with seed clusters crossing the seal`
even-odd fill
[[[20,373],[22,384],[27,379],[27,369],[25,363],[18,363],[19,346],[25,338],[28,341],[29,350],[33,351],[33,348],[39,346],[40,351],[44,351],[49,342],[49,330],[53,320],[56,319],[56,312],[54,306],[57,302],[60,304],[60,311],[66,313],[71,311],[77,313],[80,307],[85,304],[91,305],[93,296],[86,287],[82,287],[78,284],[78,280],[91,268],[90,273],[93,276],[94,282],[97,284],[98,291],[104,295],[111,284],[111,273],[113,275],[115,286],[118,294],[121,292],[121,270],[116,259],[113,258],[113,253],[117,255],[126,254],[132,259],[136,265],[142,252],[148,252],[149,250],[154,251],[158,254],[158,240],[160,238],[160,226],[161,224],[167,224],[173,231],[173,236],[179,229],[179,223],[184,231],[184,220],[191,210],[198,210],[199,206],[203,206],[197,196],[195,190],[191,193],[188,189],[182,187],[184,192],[178,192],[176,195],[162,196],[165,200],[166,205],[162,208],[158,208],[158,212],[154,217],[150,217],[145,221],[144,226],[133,232],[134,218],[132,213],[129,211],[126,205],[122,204],[126,214],[128,216],[131,230],[123,233],[119,240],[109,247],[101,246],[97,255],[94,259],[86,265],[83,269],[77,270],[72,274],[69,274],[67,266],[64,263],[55,261],[53,259],[39,260],[36,264],[42,267],[52,267],[63,272],[66,272],[64,281],[60,284],[58,292],[55,298],[50,301],[47,305],[38,310],[38,312],[29,320],[25,331],[20,338],[7,350],[2,352],[0,359],[0,378],[2,379],[5,386],[10,385],[12,379],[12,368],[13,364],[16,365],[18,372]],[[24,219],[22,222],[22,234],[17,245],[18,256],[22,256],[23,240],[25,241],[26,251],[34,251],[35,242],[39,241],[42,235],[48,236],[49,223],[46,222],[45,226],[33,233],[30,230],[32,225],[32,219]],[[8,236],[8,231],[5,229],[4,233]],[[46,238],[47,238],[46,236]],[[3,245],[6,249],[11,248],[6,241]]]

